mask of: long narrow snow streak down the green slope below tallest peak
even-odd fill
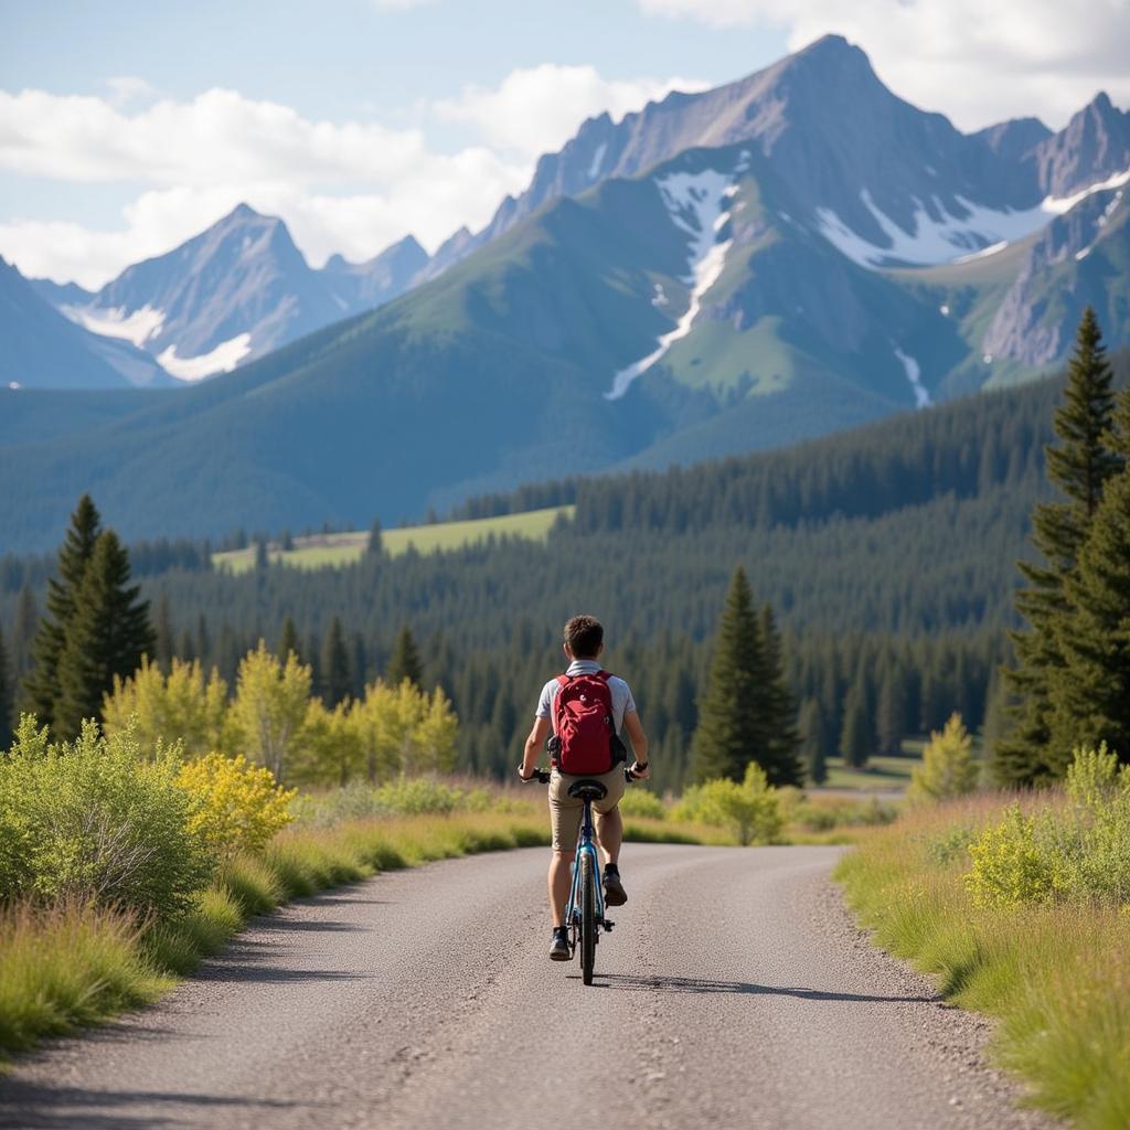
[[[729,219],[730,201],[738,191],[729,173],[712,168],[701,173],[669,173],[658,179],[655,186],[671,221],[690,236],[687,273],[683,278],[690,287],[690,296],[675,329],[660,337],[657,348],[612,376],[612,386],[605,393],[608,400],[619,400],[637,376],[646,373],[676,341],[690,332],[703,295],[718,281],[725,266],[727,252],[733,243],[733,240],[718,242],[719,232]]]

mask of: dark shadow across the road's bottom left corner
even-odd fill
[[[269,1125],[272,1110],[294,1103],[270,1098],[218,1097],[159,1090],[86,1090],[0,1080],[0,1128],[28,1130],[172,1130],[199,1124],[209,1109],[245,1107],[247,1125]],[[130,1107],[148,1107],[130,1114]],[[158,1107],[158,1110],[154,1110]],[[163,1113],[159,1107],[165,1107]],[[176,1107],[182,1107],[177,1111]],[[260,1112],[260,1113],[255,1113]]]

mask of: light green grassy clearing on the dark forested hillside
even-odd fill
[[[384,551],[399,557],[411,546],[420,554],[441,553],[445,549],[461,549],[464,546],[486,541],[487,538],[525,538],[545,541],[558,516],[572,518],[573,506],[550,506],[547,510],[531,510],[524,514],[503,514],[499,518],[478,518],[466,522],[436,522],[429,525],[408,525],[397,530],[384,530],[381,534]],[[292,565],[295,568],[327,568],[351,565],[360,559],[368,542],[368,533],[315,533],[294,539],[294,549],[284,551],[278,545],[268,547],[272,563]],[[233,573],[244,573],[255,564],[255,549],[233,549],[212,554],[216,568],[227,568]]]

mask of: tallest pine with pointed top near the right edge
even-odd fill
[[[1012,732],[997,744],[993,774],[1002,784],[1031,784],[1066,770],[1061,756],[1049,758],[1051,687],[1063,667],[1059,640],[1071,608],[1066,582],[1103,495],[1122,459],[1109,446],[1113,423],[1112,372],[1095,312],[1088,306],[1068,366],[1063,403],[1055,412],[1058,446],[1045,449],[1048,476],[1067,501],[1041,503],[1032,515],[1032,541],[1043,564],[1020,562],[1028,586],[1016,594],[1017,611],[1028,623],[1011,634],[1016,667],[1007,671],[1017,697]]]

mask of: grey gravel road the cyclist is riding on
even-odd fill
[[[545,852],[260,919],[157,1007],[0,1077],[0,1125],[1043,1128],[986,1025],[871,948],[834,847],[629,845],[597,983],[550,964]]]

